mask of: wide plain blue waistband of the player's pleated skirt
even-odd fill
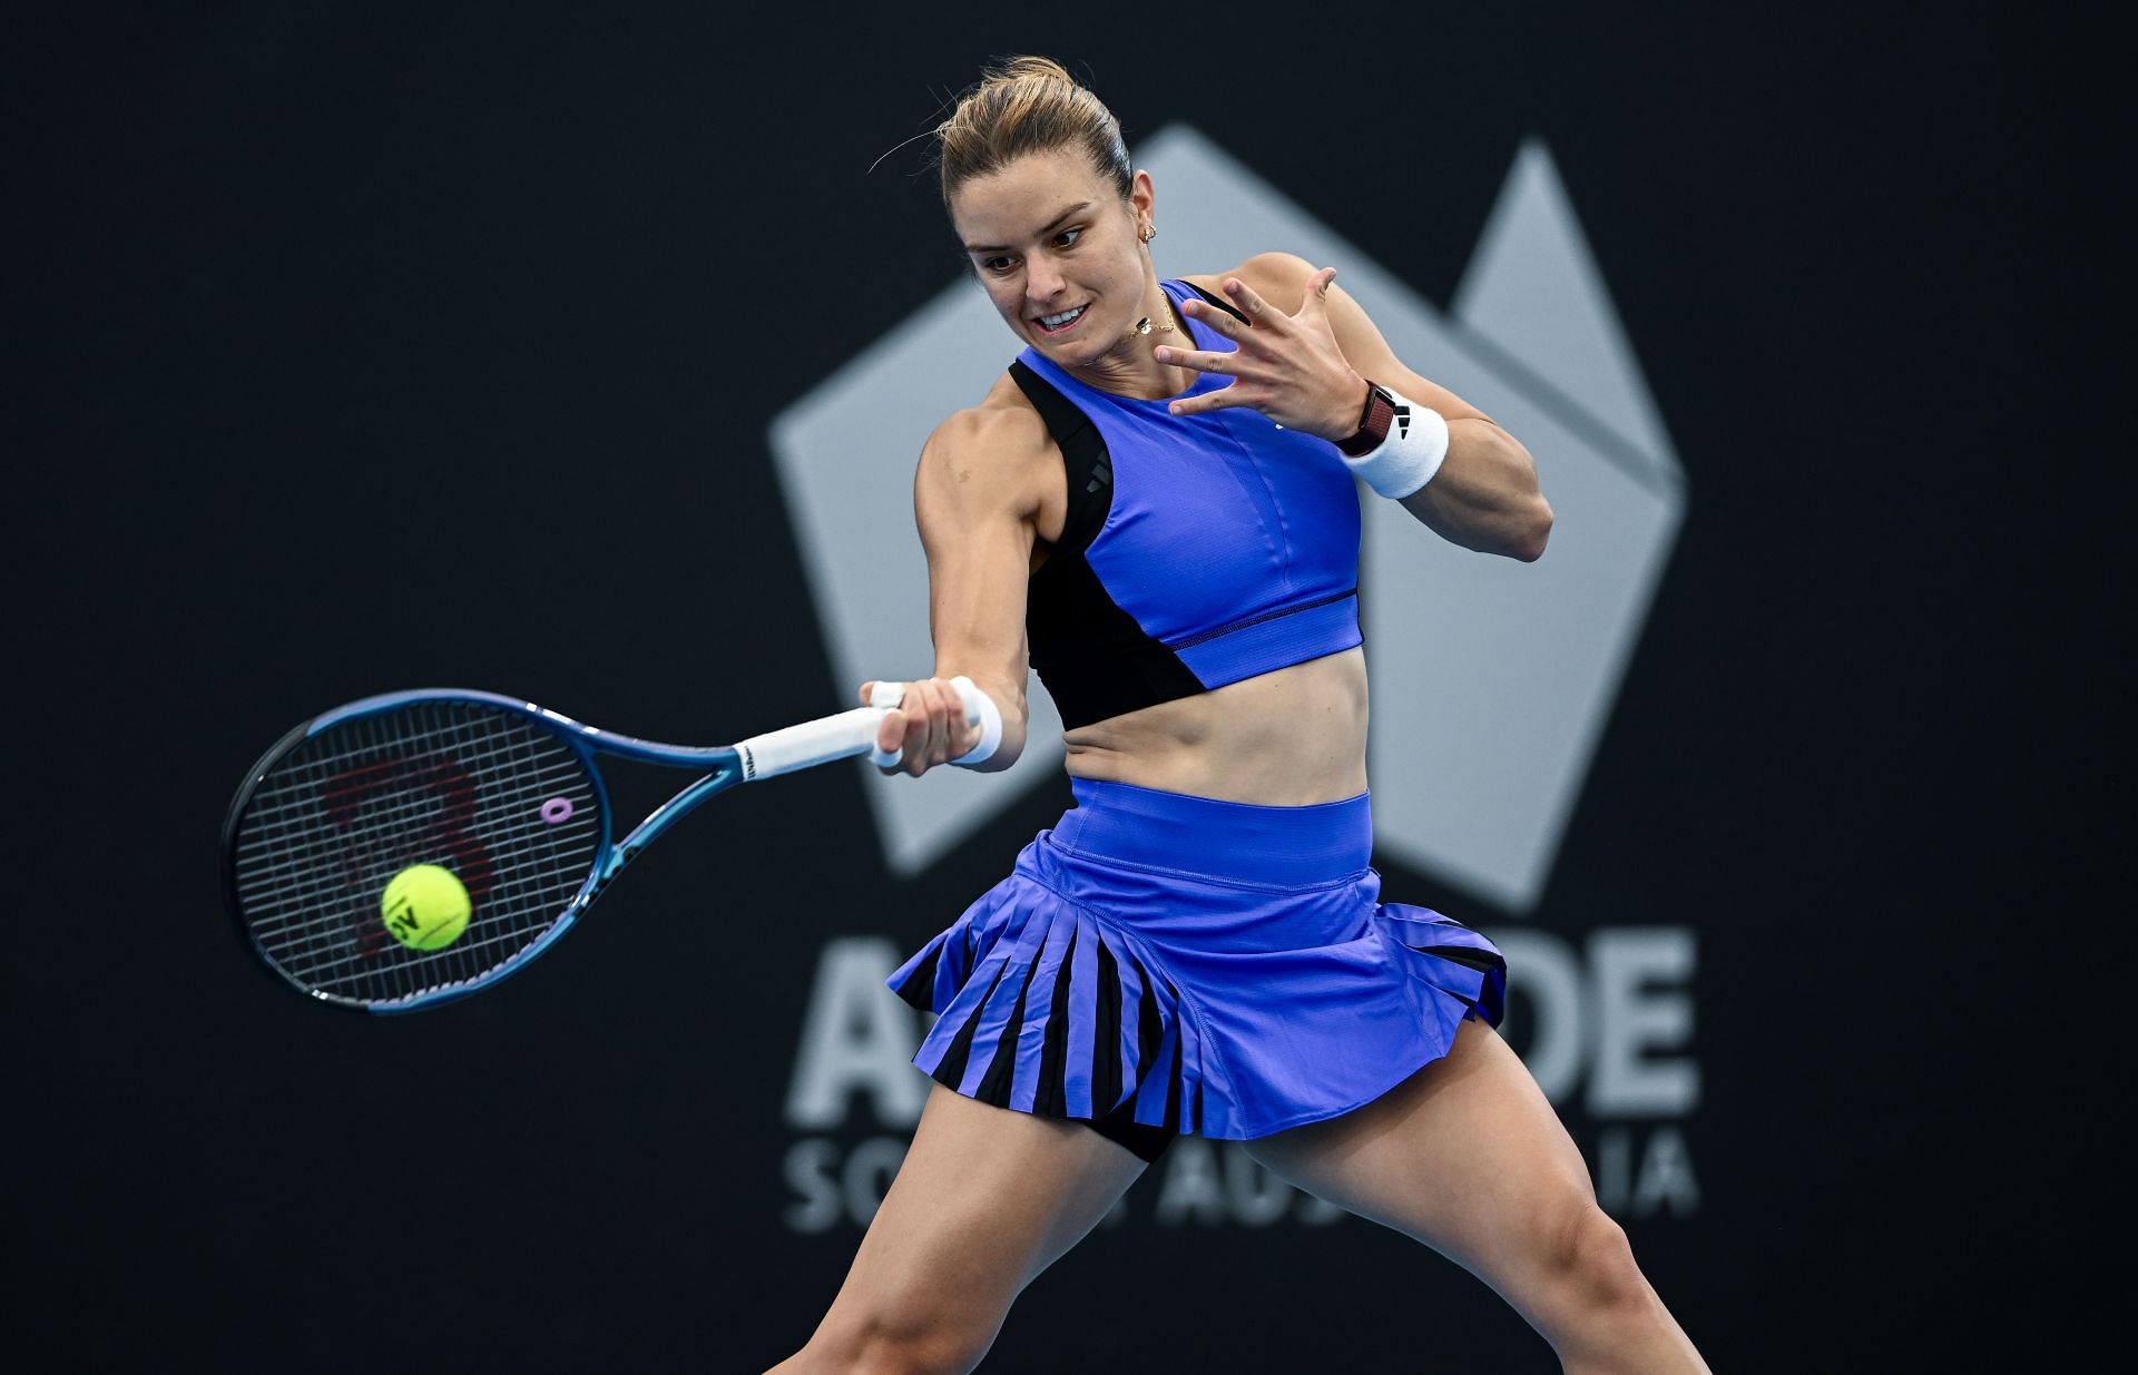
[[[1368,793],[1261,806],[1097,778],[1069,787],[1078,804],[1054,823],[1054,845],[1073,853],[1276,885],[1330,883],[1373,860]]]

